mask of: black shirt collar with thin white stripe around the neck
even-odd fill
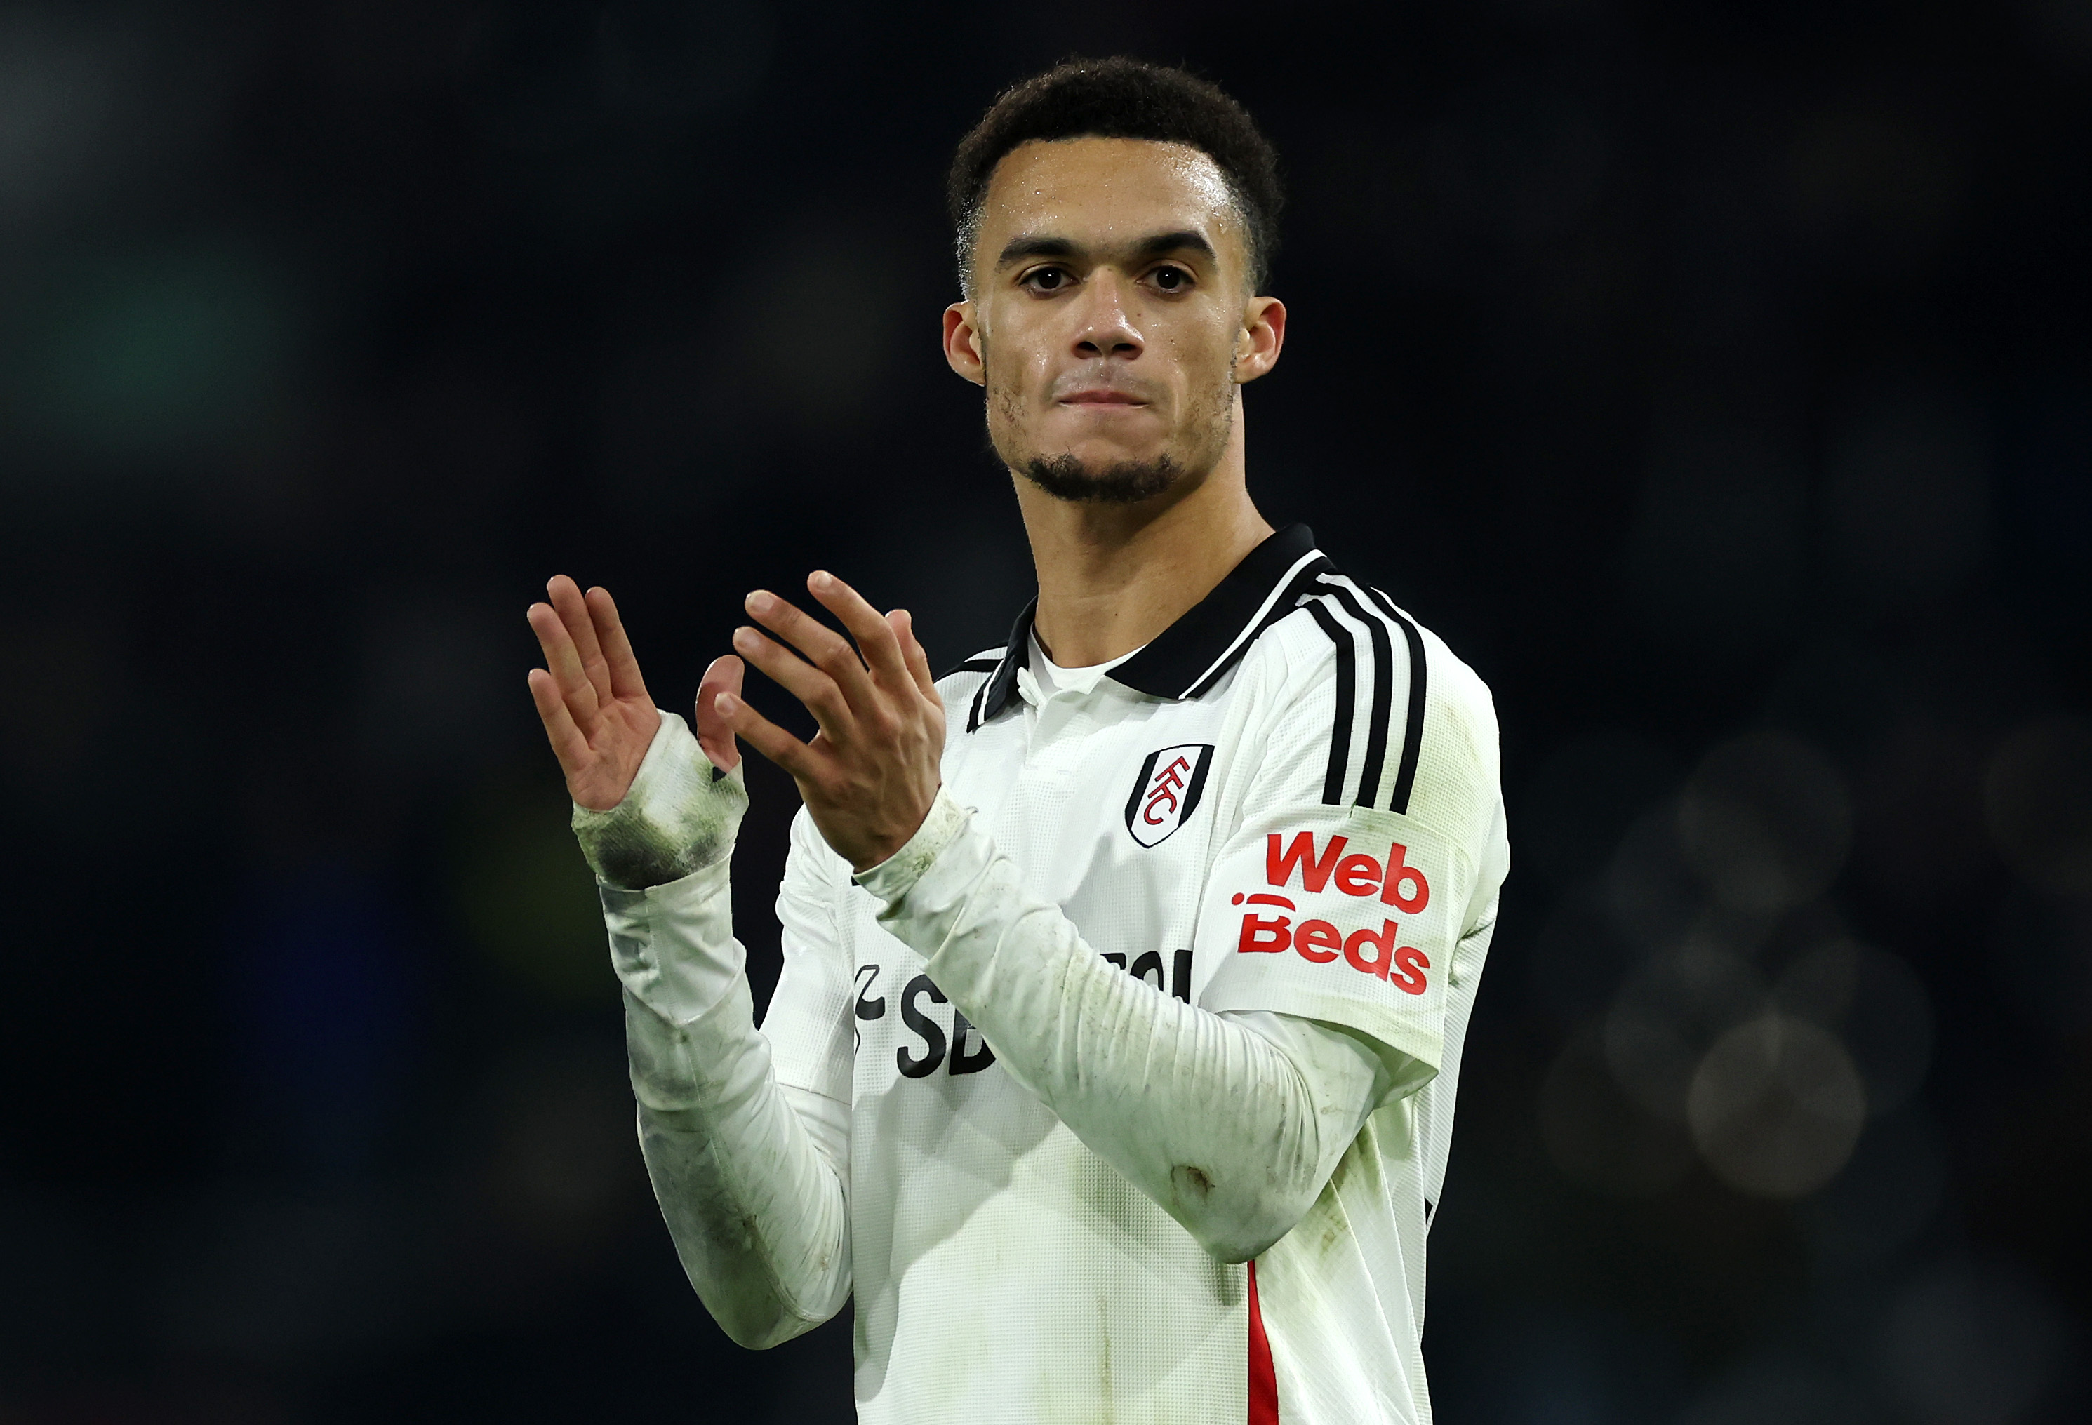
[[[1107,676],[1136,693],[1180,701],[1199,697],[1234,668],[1257,634],[1293,613],[1305,588],[1331,563],[1314,546],[1308,525],[1287,525],[1234,565],[1213,592],[1190,607],[1134,657]],[[1031,657],[1031,617],[1038,601],[1025,605],[1010,628],[996,672],[981,684],[967,714],[967,730],[994,722],[1017,693],[1017,670]]]

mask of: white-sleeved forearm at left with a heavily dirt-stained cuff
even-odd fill
[[[774,1345],[849,1293],[847,1105],[782,1090],[755,1030],[728,885],[743,804],[738,778],[713,778],[688,728],[663,716],[626,799],[577,812],[575,831],[626,988],[661,1216],[726,1333]]]

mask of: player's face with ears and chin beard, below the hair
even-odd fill
[[[996,165],[946,358],[987,387],[996,454],[1061,498],[1136,500],[1220,460],[1236,383],[1278,356],[1220,167],[1140,138]],[[1284,312],[1276,314],[1282,329]]]

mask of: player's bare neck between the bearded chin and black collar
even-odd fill
[[[1220,462],[1138,504],[1056,500],[1017,477],[1040,580],[1033,624],[1063,668],[1142,647],[1213,592],[1272,527],[1249,502],[1243,406]]]

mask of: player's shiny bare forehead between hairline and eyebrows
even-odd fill
[[[1056,138],[1010,149],[981,203],[981,241],[1019,232],[1077,241],[1197,230],[1241,236],[1220,165],[1188,144],[1151,138]]]

